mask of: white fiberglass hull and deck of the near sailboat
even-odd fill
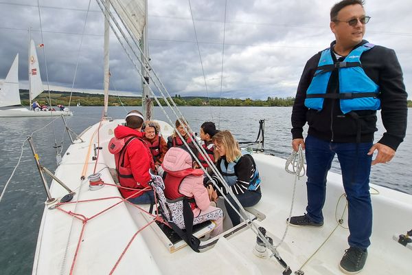
[[[256,237],[250,228],[231,236],[221,236],[213,248],[202,253],[193,252],[186,246],[171,254],[151,226],[144,228],[148,223],[144,218],[146,214],[123,203],[116,187],[89,190],[87,176],[93,173],[93,144],[97,146],[98,138],[102,150],[95,171],[102,173],[106,184],[113,184],[107,167],[113,168],[115,164],[107,144],[113,137],[113,129],[121,122],[103,121],[99,136],[98,124],[95,124],[81,135],[84,143],[76,141],[67,149],[56,176],[76,192],[73,201],[82,202],[54,210],[45,208],[32,274],[111,274],[112,271],[113,274],[282,274],[284,268],[275,259],[262,259],[253,254]],[[253,157],[262,176],[262,200],[254,208],[266,215],[256,223],[266,228],[268,235],[277,243],[286,228],[294,175],[285,172],[284,159],[264,154],[253,154]],[[80,179],[82,170],[86,171],[85,180]],[[410,274],[412,250],[393,241],[393,235],[411,230],[412,195],[374,184],[371,187],[376,188],[379,195],[372,195],[374,228],[363,274]],[[56,198],[67,193],[55,181],[51,192]],[[343,192],[341,176],[330,173],[323,228],[288,228],[278,252],[293,272],[299,270],[328,239],[302,270],[305,274],[341,274],[338,265],[347,248],[349,234],[345,229],[347,210],[343,215],[343,227],[334,229],[336,219],[341,219],[345,207],[344,197],[339,201]],[[371,189],[371,192],[375,191]],[[84,201],[89,199],[100,200]],[[119,204],[114,206],[115,203]],[[302,178],[297,181],[293,213],[303,214],[305,206],[306,178]],[[84,223],[62,210],[89,219]],[[144,229],[125,251],[141,228]]]

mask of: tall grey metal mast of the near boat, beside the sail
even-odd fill
[[[144,76],[144,79],[141,80],[141,107],[143,109],[143,115],[146,120],[152,120],[152,110],[153,102],[150,97],[150,91],[148,87],[149,83],[149,74],[146,69],[149,68],[146,64],[146,59],[149,59],[149,49],[148,49],[148,1],[144,3],[144,29],[141,35],[140,47],[144,54],[141,56],[141,60],[144,61],[144,65],[141,65],[141,74]],[[146,80],[146,81],[145,81]]]

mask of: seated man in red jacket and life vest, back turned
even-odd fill
[[[148,187],[150,181],[149,169],[155,168],[150,149],[143,140],[143,115],[136,110],[126,115],[126,124],[115,128],[115,137],[108,143],[108,150],[115,155],[117,177],[120,193],[131,203],[150,203],[154,200],[153,191],[139,189]]]

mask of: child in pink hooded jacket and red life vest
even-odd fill
[[[194,201],[190,202],[194,223],[213,220],[216,227],[210,236],[214,237],[222,233],[222,210],[210,205],[207,189],[203,186],[203,170],[197,168],[198,165],[192,160],[190,153],[183,148],[172,147],[165,154],[161,166],[166,172],[165,197],[168,199],[194,198]]]

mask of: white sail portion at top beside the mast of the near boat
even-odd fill
[[[145,0],[111,0],[111,5],[119,17],[137,39],[141,38],[145,26]]]

